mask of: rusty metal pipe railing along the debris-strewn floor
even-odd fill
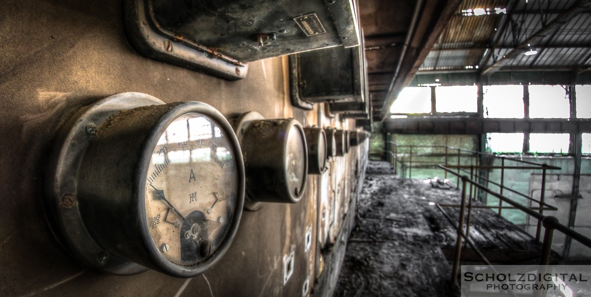
[[[540,262],[539,262],[540,265],[542,265],[543,267],[547,267],[547,265],[550,263],[551,246],[552,246],[552,240],[553,240],[553,235],[554,235],[555,230],[563,233],[567,237],[570,237],[570,238],[578,241],[579,243],[583,244],[584,246],[591,248],[591,239],[590,238],[585,237],[584,235],[582,235],[580,233],[577,233],[576,231],[570,229],[569,227],[566,227],[563,224],[560,224],[560,222],[558,221],[558,219],[556,217],[544,215],[545,210],[552,210],[552,211],[557,210],[556,207],[554,207],[552,205],[548,205],[544,201],[546,171],[547,170],[557,170],[557,169],[560,169],[560,167],[548,166],[547,164],[519,160],[519,159],[515,159],[512,157],[507,157],[507,156],[498,156],[496,154],[491,154],[491,153],[481,153],[481,152],[477,152],[477,151],[459,149],[457,147],[400,146],[397,143],[390,141],[389,153],[391,156],[391,165],[397,169],[398,163],[401,163],[401,168],[404,169],[404,167],[407,167],[409,169],[409,178],[411,178],[412,177],[412,168],[413,168],[413,149],[414,149],[414,151],[417,151],[416,149],[418,147],[445,150],[445,153],[443,154],[443,156],[441,156],[441,154],[436,154],[436,156],[444,157],[444,164],[441,164],[441,162],[439,162],[438,164],[434,164],[434,162],[431,162],[431,163],[430,162],[420,162],[418,164],[420,164],[421,167],[427,167],[427,166],[434,166],[435,167],[436,166],[437,168],[444,170],[446,178],[447,178],[447,173],[457,176],[457,187],[458,188],[460,186],[460,180],[462,182],[462,195],[460,196],[460,199],[461,199],[460,205],[439,204],[439,203],[436,204],[437,208],[443,213],[444,217],[446,217],[446,219],[450,222],[450,224],[452,224],[452,225],[457,224],[456,247],[455,247],[453,268],[452,268],[452,283],[453,283],[453,285],[457,285],[457,274],[459,272],[460,259],[462,256],[462,249],[464,246],[462,244],[462,240],[464,241],[464,243],[466,243],[468,246],[470,246],[472,248],[472,250],[482,260],[482,262],[488,264],[489,266],[491,265],[491,263],[488,261],[488,259],[486,259],[484,254],[479,250],[478,247],[476,247],[476,244],[469,237],[470,221],[472,218],[472,209],[473,208],[498,208],[499,216],[501,216],[502,209],[518,209],[519,211],[522,211],[525,214],[530,215],[530,217],[537,219],[538,224],[537,224],[536,235],[535,235],[535,241],[537,243],[540,243],[541,227],[545,228],[544,237],[543,237],[543,240],[541,241],[542,248],[541,248],[541,256],[540,256]],[[405,160],[405,157],[407,157],[406,152],[404,152],[404,155],[402,157],[400,156],[401,155],[400,149],[402,149],[402,148],[408,148],[408,153],[410,153],[410,154],[408,154],[407,160]],[[453,156],[457,156],[457,164],[448,164],[447,163],[449,160],[449,157],[450,157],[449,151],[453,151]],[[456,154],[456,151],[457,151],[457,154]],[[469,156],[470,158],[476,159],[475,162],[473,162],[473,160],[470,160],[470,165],[461,164],[460,160],[462,158],[462,152],[464,153],[463,154],[464,156]],[[427,155],[428,154],[423,154],[423,156],[427,156]],[[483,157],[483,156],[501,159],[501,166],[492,166],[492,165],[488,165],[488,164],[486,164],[486,165],[481,164],[482,163],[481,157]],[[524,166],[506,166],[505,165],[506,160],[511,160],[511,161],[514,161],[517,163],[521,163],[521,164],[524,164]],[[408,164],[405,164],[405,162],[408,162]],[[474,165],[473,163],[476,163],[476,165]],[[415,160],[414,164],[417,164],[416,160]],[[467,169],[470,169],[470,170],[467,170]],[[485,176],[476,174],[475,173],[476,169],[478,169],[478,170],[480,170],[480,169],[488,169],[488,170],[500,169],[501,170],[501,180],[498,183],[493,182],[491,179],[488,179]],[[508,170],[508,169],[542,170],[540,200],[534,199],[531,196],[525,195],[524,193],[515,191],[514,189],[507,188],[505,186],[504,181],[505,181],[505,170]],[[462,174],[462,173],[465,173],[465,174]],[[469,174],[469,176],[467,176],[466,174]],[[478,179],[478,180],[475,180],[475,179]],[[488,184],[498,186],[500,190],[499,190],[499,192],[492,191],[491,189],[488,188],[488,186],[483,185],[483,183],[488,183]],[[499,199],[498,206],[496,206],[496,205],[476,205],[476,206],[473,205],[472,201],[473,201],[473,198],[475,198],[475,196],[476,196],[476,195],[473,195],[473,193],[475,194],[476,191],[481,191],[483,193],[486,193],[487,195],[492,195],[495,198]],[[505,191],[517,194],[517,195],[527,199],[528,201],[532,201],[534,203],[537,203],[537,206],[522,205],[519,202],[514,201],[513,199],[505,196],[504,195]],[[466,214],[466,196],[468,196],[467,214]],[[506,203],[511,206],[504,206],[503,203]],[[452,217],[450,217],[450,215],[447,214],[447,212],[443,209],[444,207],[459,207],[460,208],[459,222],[457,222],[457,223],[454,222]],[[466,217],[466,215],[467,215],[467,217]],[[540,291],[540,293],[541,293],[541,291]]]

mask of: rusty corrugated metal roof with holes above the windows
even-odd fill
[[[515,0],[517,1],[517,0]],[[478,66],[486,69],[509,56],[501,70],[580,69],[591,63],[591,8],[579,8],[576,14],[558,19],[568,12],[577,0],[466,0],[450,21],[433,50],[419,68],[428,70],[470,70]],[[514,11],[510,11],[514,5]],[[473,15],[474,9],[483,8],[486,15]],[[506,9],[509,15],[495,14],[495,8]],[[470,10],[471,9],[471,10]],[[472,12],[472,15],[469,15]],[[505,21],[510,20],[510,21]],[[548,24],[557,21],[553,30]],[[503,25],[505,28],[503,29]],[[525,44],[542,32],[530,46]],[[496,35],[502,33],[493,51],[492,59],[484,64],[492,49]],[[524,48],[512,51],[515,46]],[[525,56],[525,51],[538,53]],[[586,59],[587,58],[587,59]],[[482,63],[482,64],[481,64]]]

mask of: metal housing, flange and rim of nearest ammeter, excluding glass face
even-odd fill
[[[131,120],[135,121],[135,124],[115,126],[115,118],[133,119],[134,116],[128,114],[130,112],[144,112],[155,117],[151,124]],[[232,222],[219,247],[201,262],[180,266],[165,259],[154,244],[146,219],[145,182],[158,139],[171,122],[191,112],[209,117],[225,133],[235,154],[238,192],[235,210],[231,216]],[[109,129],[121,131],[115,127],[124,128],[126,133],[131,133],[131,137],[128,135],[128,138],[108,138],[113,135],[109,134],[112,133]],[[138,134],[135,131],[139,130],[134,130],[137,127],[141,127],[144,135],[134,135]],[[111,139],[115,143],[112,143]],[[118,155],[117,147],[126,146],[129,141],[137,144],[137,150],[129,150],[130,153],[134,152],[135,156]],[[96,159],[95,153],[101,153],[98,156],[106,156],[105,148],[106,154],[116,157],[102,162],[102,158]],[[131,159],[121,159],[124,156]],[[121,163],[113,164],[113,160],[119,160]],[[125,161],[122,162],[123,160]],[[121,93],[105,98],[82,109],[60,128],[49,165],[51,179],[48,179],[47,183],[46,214],[52,230],[74,257],[95,269],[115,275],[133,275],[150,267],[176,277],[196,276],[220,259],[238,229],[245,189],[242,151],[226,118],[215,108],[202,102],[164,105],[164,102],[143,93]],[[110,168],[109,166],[117,167],[115,175],[105,176],[105,180],[101,179],[98,182],[87,180],[86,176],[100,173],[100,170]],[[125,175],[126,182],[123,184],[118,184],[121,179],[113,177]],[[116,217],[116,221],[113,222],[118,225],[125,222],[120,224],[125,227],[121,227],[121,230],[101,228],[103,219],[93,217],[95,214]],[[134,235],[127,237],[125,234]],[[123,243],[122,235],[125,236]],[[119,241],[112,240],[111,237],[119,238]],[[124,244],[125,248],[119,248],[118,244]]]

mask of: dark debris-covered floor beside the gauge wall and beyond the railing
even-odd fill
[[[334,296],[459,296],[450,285],[457,227],[436,204],[457,224],[460,193],[449,180],[402,179],[387,162],[370,162]],[[473,204],[470,238],[491,262],[538,259],[531,235]],[[462,260],[479,262],[470,248]]]

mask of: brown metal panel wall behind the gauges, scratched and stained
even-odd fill
[[[9,40],[0,46],[0,295],[302,296],[330,290],[329,273],[339,257],[320,262],[319,202],[349,205],[346,211],[327,209],[336,222],[332,233],[342,233],[342,216],[354,210],[351,185],[361,178],[351,177],[352,166],[367,156],[362,146],[330,162],[331,171],[341,172],[339,180],[328,171],[310,175],[296,204],[264,202],[259,211],[244,211],[225,255],[197,277],[155,270],[110,275],[60,246],[44,206],[48,154],[59,127],[100,99],[141,92],[166,104],[204,102],[227,119],[256,111],[269,119],[294,118],[304,128],[355,129],[354,120],[326,117],[322,104],[311,111],[291,106],[286,57],[252,62],[248,78],[229,82],[139,55],[126,40],[121,7],[114,0],[27,0],[8,1],[0,12],[0,34]],[[331,193],[339,187],[336,198]]]

